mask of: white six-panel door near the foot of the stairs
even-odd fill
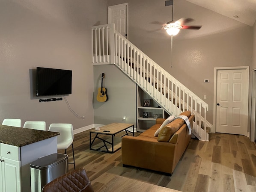
[[[216,132],[247,136],[248,68],[217,71]]]

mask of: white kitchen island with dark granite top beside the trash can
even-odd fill
[[[57,153],[59,134],[0,125],[0,192],[30,192],[30,163]]]

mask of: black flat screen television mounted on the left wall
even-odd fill
[[[71,90],[71,70],[36,68],[36,96],[68,95]]]

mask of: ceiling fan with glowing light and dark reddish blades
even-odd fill
[[[173,6],[173,0],[166,0],[165,6]],[[166,30],[168,35],[177,35],[180,30],[190,29],[190,30],[199,30],[202,26],[188,26],[185,25],[191,21],[194,21],[192,18],[180,18],[177,21],[173,21],[173,14],[172,14],[172,21],[167,22],[166,24],[162,25],[162,29]]]

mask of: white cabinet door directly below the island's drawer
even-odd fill
[[[1,160],[0,178],[2,177],[3,181],[3,185],[1,185],[3,192],[21,192],[20,161],[5,157],[1,157]]]

